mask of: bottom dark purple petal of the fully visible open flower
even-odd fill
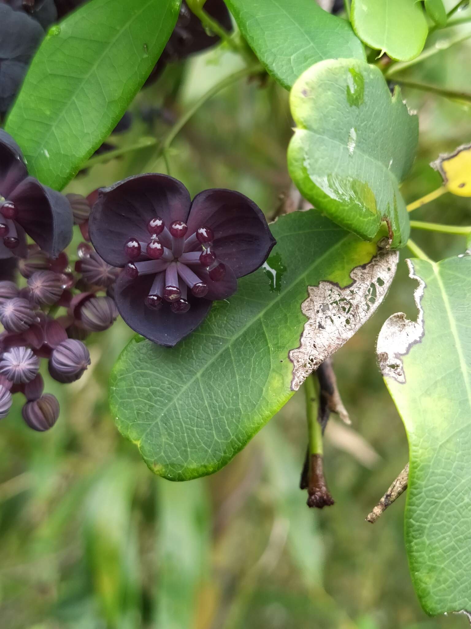
[[[149,294],[153,281],[154,276],[129,280],[121,274],[116,282],[116,306],[130,328],[154,343],[173,347],[200,325],[212,302],[195,298],[188,291],[191,307],[184,315],[175,315],[170,304],[164,304],[160,310],[150,309],[144,304],[144,298]]]

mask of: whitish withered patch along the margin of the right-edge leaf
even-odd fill
[[[424,335],[423,310],[420,301],[425,289],[425,282],[414,274],[414,266],[411,260],[406,260],[409,267],[409,277],[418,281],[418,287],[414,291],[414,301],[418,309],[416,321],[410,321],[404,313],[391,315],[381,328],[376,343],[376,353],[379,369],[383,377],[394,378],[404,384],[402,357],[409,352],[415,343],[420,342]]]

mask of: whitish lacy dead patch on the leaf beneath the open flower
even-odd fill
[[[368,264],[352,270],[352,283],[344,288],[329,281],[308,286],[308,298],[301,304],[308,320],[300,346],[288,354],[293,363],[293,391],[376,311],[393,281],[398,259],[397,251],[377,253]]]

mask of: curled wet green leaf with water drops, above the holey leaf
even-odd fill
[[[291,179],[327,216],[361,238],[389,223],[393,248],[409,238],[399,192],[414,160],[418,118],[381,71],[355,59],[313,65],[291,90],[298,128],[288,147]]]

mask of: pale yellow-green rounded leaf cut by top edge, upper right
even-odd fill
[[[416,0],[352,0],[350,19],[360,40],[393,59],[413,59],[425,46],[427,21]]]

